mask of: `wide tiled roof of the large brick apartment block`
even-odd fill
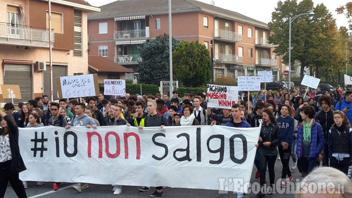
[[[137,6],[142,5],[142,6]],[[157,15],[168,14],[167,0],[117,0],[100,6],[101,12],[89,13],[88,20],[110,19],[133,15]],[[223,9],[197,0],[173,0],[172,13],[182,12],[207,12],[214,16],[225,17],[267,28],[267,23],[260,22],[238,12]]]

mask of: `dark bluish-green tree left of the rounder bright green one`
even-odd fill
[[[172,39],[172,50],[181,41]],[[154,40],[139,48],[142,62],[139,63],[139,81],[146,84],[159,85],[161,80],[169,80],[169,35],[155,37]]]

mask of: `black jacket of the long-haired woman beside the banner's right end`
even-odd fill
[[[265,122],[263,122],[260,136],[262,137],[262,142],[259,143],[259,153],[265,155],[277,154],[276,146],[281,141],[280,126],[272,122],[266,125]],[[266,147],[263,144],[264,142],[271,142],[271,145]]]

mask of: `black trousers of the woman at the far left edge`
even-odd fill
[[[17,197],[27,198],[22,181],[19,179],[18,173],[10,173],[11,160],[0,163],[0,198],[5,196],[8,182],[10,182]]]

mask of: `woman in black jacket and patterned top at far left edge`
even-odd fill
[[[18,145],[19,131],[11,113],[0,111],[0,198],[5,196],[8,182],[17,197],[27,198],[19,173],[26,170]]]

